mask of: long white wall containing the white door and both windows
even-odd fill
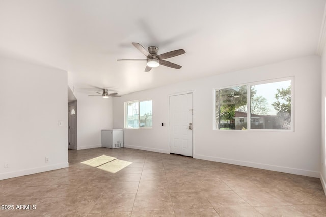
[[[213,130],[213,88],[289,76],[294,132]],[[124,129],[124,146],[169,153],[169,95],[192,91],[194,158],[319,177],[320,88],[320,57],[308,56],[124,95],[114,99],[113,127],[124,127],[125,101],[152,99],[153,128]]]

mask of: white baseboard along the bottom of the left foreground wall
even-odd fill
[[[36,167],[36,168],[30,168],[30,169],[26,169],[26,170],[2,173],[2,174],[0,174],[0,180],[24,176],[24,175],[31,175],[34,173],[41,173],[41,172],[46,172],[46,171],[51,171],[51,170],[57,170],[57,169],[62,169],[62,168],[66,168],[66,167],[69,167],[68,162],[61,163],[61,164],[53,164],[53,165],[49,165],[49,166],[45,166],[45,167]]]

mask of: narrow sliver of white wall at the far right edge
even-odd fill
[[[326,47],[325,47],[326,48]],[[320,145],[320,181],[326,193],[326,53],[325,49],[321,56],[321,145]]]

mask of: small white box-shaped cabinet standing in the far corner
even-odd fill
[[[102,147],[122,148],[123,147],[123,130],[122,129],[103,129],[102,130]]]

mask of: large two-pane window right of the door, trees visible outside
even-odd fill
[[[292,80],[216,89],[215,129],[293,130]]]

